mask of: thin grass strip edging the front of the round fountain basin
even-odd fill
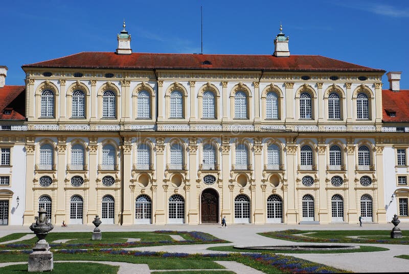
[[[377,251],[386,251],[388,248],[377,247],[377,246],[367,246],[360,245],[359,249],[346,249],[346,250],[265,250],[265,249],[237,249],[233,248],[233,245],[223,245],[223,246],[212,246],[207,248],[209,250],[216,251],[229,251],[229,252],[245,252],[245,253],[354,253],[354,252],[377,252]]]

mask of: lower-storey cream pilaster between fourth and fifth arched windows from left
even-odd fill
[[[161,97],[162,95],[158,95],[158,98]],[[162,112],[161,112],[162,113]],[[152,203],[155,204],[156,210],[152,213],[154,214],[154,220],[152,222],[154,224],[165,224],[166,223],[166,209],[167,209],[167,201],[164,203],[164,201],[167,198],[167,192],[162,191],[162,189],[165,190],[164,187],[166,187],[166,191],[168,190],[168,186],[163,185],[163,179],[164,179],[164,167],[165,167],[165,157],[164,157],[164,150],[165,150],[165,144],[164,144],[164,139],[163,138],[156,138],[156,145],[155,145],[155,151],[156,151],[156,183],[157,186],[153,186],[157,188],[156,192],[156,199],[152,201]]]

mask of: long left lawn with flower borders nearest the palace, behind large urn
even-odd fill
[[[184,240],[176,241],[169,235],[179,235]],[[0,238],[0,242],[19,239],[27,233],[14,233]],[[177,232],[177,231],[156,231],[156,232],[103,232],[102,240],[93,241],[92,232],[55,232],[47,235],[46,240],[53,249],[64,248],[119,248],[138,247],[153,245],[174,245],[174,244],[207,244],[207,243],[227,243],[210,234],[202,232]],[[127,242],[128,238],[141,239],[141,241]],[[66,243],[58,243],[58,240],[72,239]],[[30,240],[18,241],[0,245],[0,249],[31,249],[37,237]],[[57,243],[53,243],[57,241]]]

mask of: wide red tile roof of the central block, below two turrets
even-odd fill
[[[203,64],[210,61],[211,64]],[[93,69],[205,69],[266,71],[348,71],[379,72],[383,70],[339,61],[319,55],[227,55],[81,52],[48,61],[26,64],[26,67],[78,67]]]

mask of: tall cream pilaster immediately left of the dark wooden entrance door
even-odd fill
[[[199,205],[197,203],[197,187],[196,187],[196,174],[197,174],[197,139],[195,137],[189,138],[189,185],[186,185],[186,194],[189,194],[189,212],[188,223],[199,223]],[[189,191],[188,191],[189,189]]]

